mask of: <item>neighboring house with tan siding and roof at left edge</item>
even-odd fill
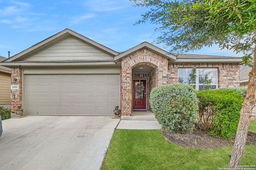
[[[0,56],[0,62],[6,60]],[[0,64],[0,106],[10,107],[11,104],[11,69]]]

